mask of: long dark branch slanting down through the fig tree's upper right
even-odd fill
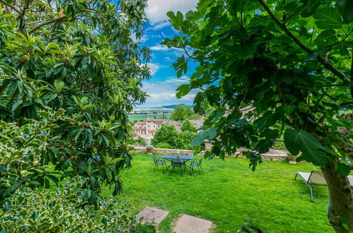
[[[306,44],[301,42],[301,40],[299,40],[295,35],[293,35],[293,33],[291,33],[289,31],[289,29],[286,27],[286,25],[281,23],[278,20],[278,18],[276,16],[274,16],[274,14],[272,13],[271,9],[267,6],[267,4],[265,3],[264,0],[257,0],[257,1],[262,5],[263,8],[265,8],[265,11],[267,11],[267,13],[271,16],[272,20],[274,20],[274,23],[277,23],[277,25],[279,25],[279,27],[282,28],[284,33],[286,33],[289,37],[291,37],[291,39],[294,40],[294,42],[296,42],[296,44],[298,44],[299,47],[301,47],[301,49],[303,49],[308,54],[313,54],[314,53],[313,50],[311,50]],[[345,74],[341,73],[339,70],[337,70],[337,68],[335,68],[335,66],[332,66],[332,64],[330,64],[329,61],[323,59],[322,56],[318,56],[318,61],[325,68],[327,68],[329,71],[331,71],[336,76],[338,76],[340,79],[342,79],[344,83],[346,83],[346,84],[349,83],[349,81],[347,80],[347,77],[345,76]]]

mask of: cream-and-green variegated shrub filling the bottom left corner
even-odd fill
[[[1,232],[126,232],[135,224],[129,206],[112,198],[87,205],[79,179],[56,191],[16,191],[0,209]]]

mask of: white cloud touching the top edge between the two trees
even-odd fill
[[[168,20],[168,11],[194,11],[198,0],[149,0],[146,8],[146,16],[152,25]]]

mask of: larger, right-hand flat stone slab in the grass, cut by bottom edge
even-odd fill
[[[199,217],[182,215],[175,225],[175,233],[208,233],[212,227],[212,222]]]

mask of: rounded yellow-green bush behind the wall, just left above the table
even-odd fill
[[[175,148],[177,137],[178,131],[176,131],[175,126],[162,124],[161,128],[154,133],[151,143],[154,146],[158,143],[168,143],[171,148]]]

